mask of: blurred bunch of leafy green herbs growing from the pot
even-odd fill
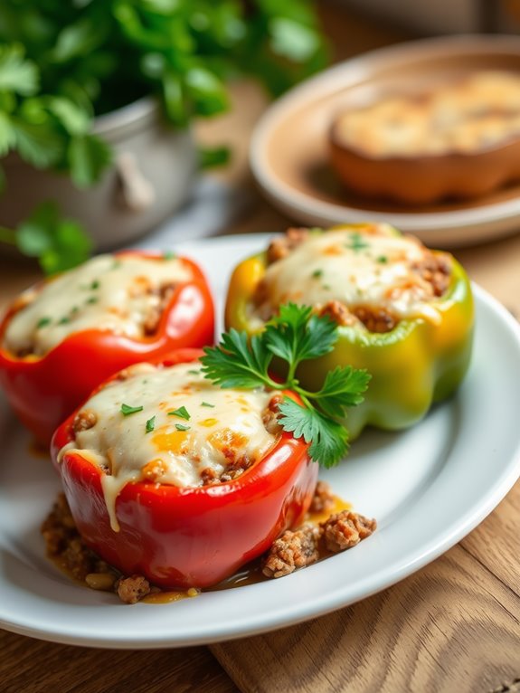
[[[229,107],[237,74],[276,96],[325,63],[309,0],[2,0],[0,159],[87,187],[111,161],[96,116],[152,93],[184,128]],[[218,147],[202,162],[227,158]]]

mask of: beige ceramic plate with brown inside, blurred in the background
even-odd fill
[[[387,221],[446,248],[515,233],[520,183],[477,201],[406,207],[347,193],[328,163],[328,129],[341,110],[481,70],[520,71],[520,38],[429,39],[336,65],[288,92],[260,119],[251,140],[253,175],[271,202],[301,223]]]

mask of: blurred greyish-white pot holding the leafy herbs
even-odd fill
[[[13,228],[44,200],[78,219],[96,250],[117,248],[151,231],[188,199],[196,148],[188,130],[168,127],[155,100],[144,98],[100,116],[94,132],[113,149],[114,164],[98,185],[79,190],[69,176],[39,171],[10,155],[0,224]]]

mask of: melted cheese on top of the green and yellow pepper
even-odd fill
[[[382,307],[398,318],[437,323],[432,286],[413,271],[429,253],[417,239],[395,235],[388,224],[311,233],[269,265],[263,289],[275,309],[289,301],[320,309],[337,300],[347,308]]]

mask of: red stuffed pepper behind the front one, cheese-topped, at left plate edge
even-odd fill
[[[214,310],[193,261],[152,252],[101,255],[26,291],[0,325],[0,384],[48,444],[109,375],[184,346],[213,343]]]

